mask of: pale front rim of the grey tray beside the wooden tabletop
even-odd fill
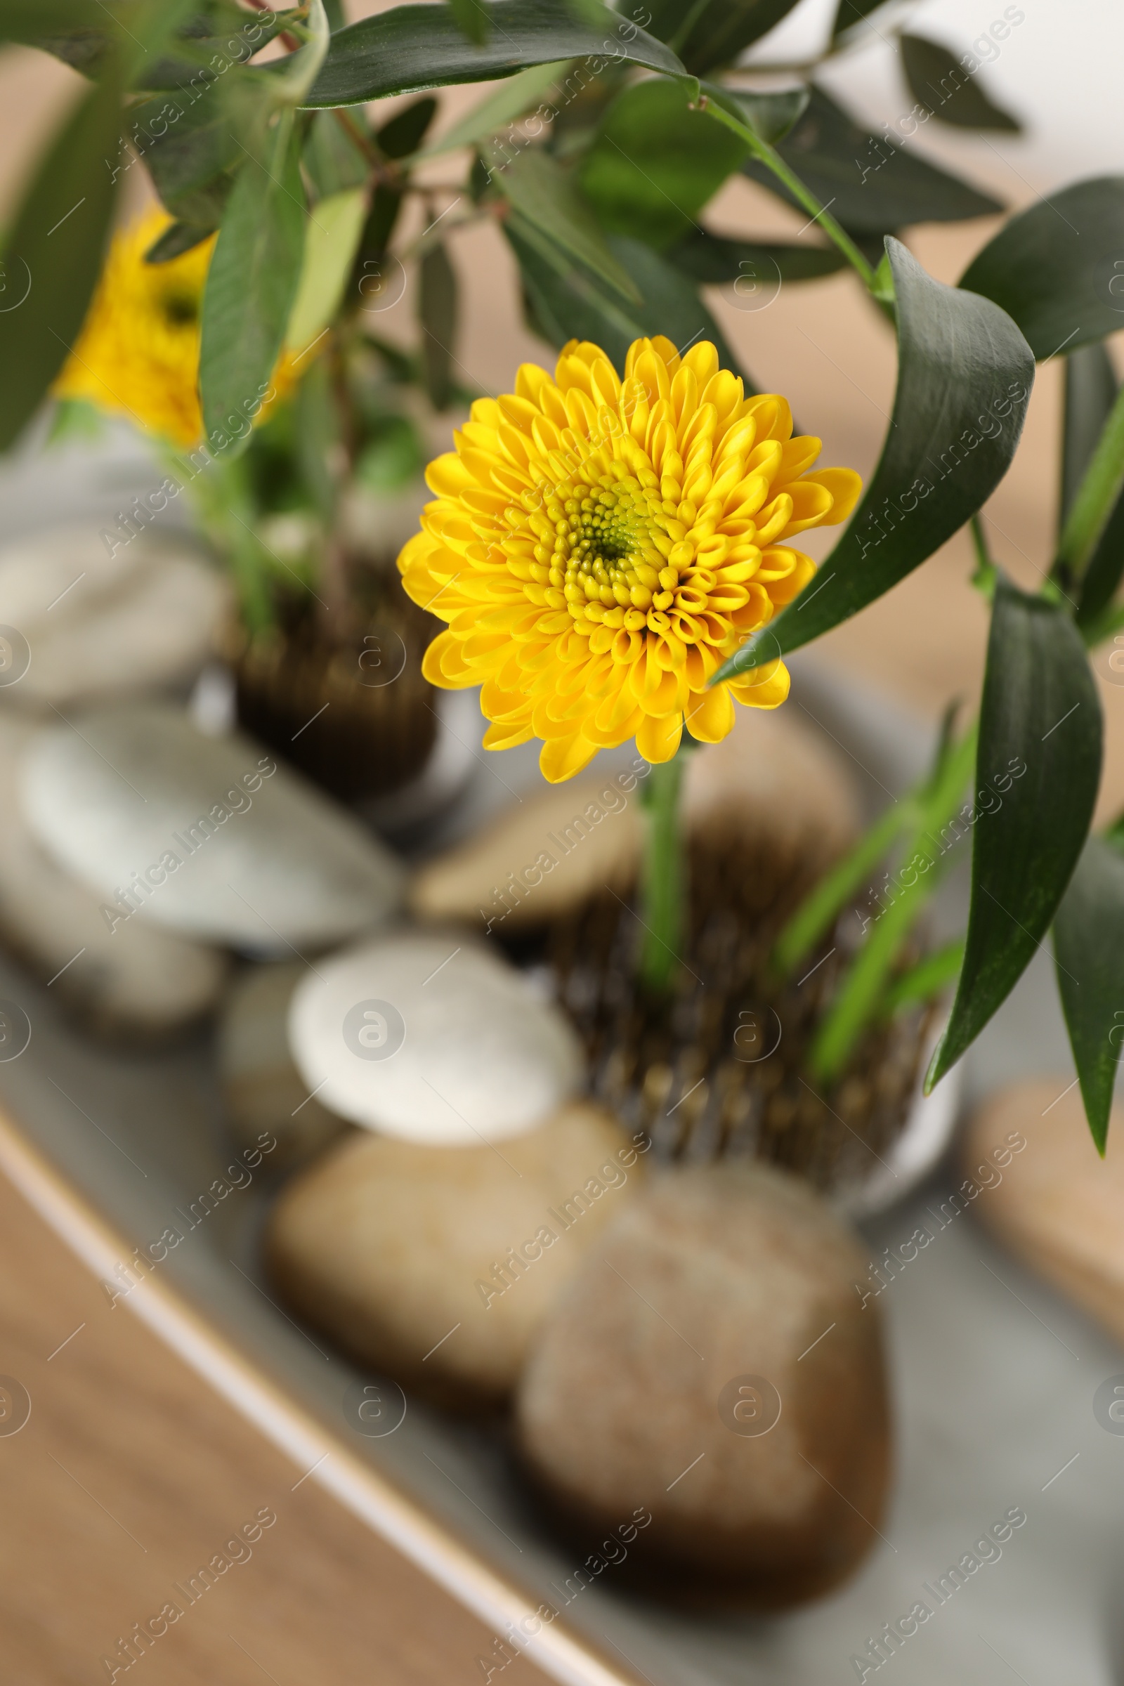
[[[123,1234],[29,1140],[8,1106],[0,1106],[0,1172],[91,1275],[108,1278],[116,1261],[128,1256]],[[290,1399],[266,1369],[244,1357],[163,1278],[142,1278],[126,1297],[126,1305],[219,1398],[303,1470],[302,1480],[315,1480],[472,1615],[507,1635],[509,1629],[536,1614],[538,1598],[495,1573],[393,1480],[356,1457],[345,1442]],[[539,1627],[517,1644],[512,1640],[512,1647],[559,1686],[635,1686],[630,1674],[622,1674],[558,1622]]]

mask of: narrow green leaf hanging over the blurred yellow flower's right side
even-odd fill
[[[207,438],[256,415],[300,283],[305,191],[293,115],[276,120],[265,160],[238,172],[202,298],[199,386]],[[236,440],[248,437],[234,425]]]

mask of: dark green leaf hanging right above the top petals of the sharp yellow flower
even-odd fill
[[[738,359],[694,287],[650,246],[622,234],[608,241],[640,290],[642,302],[637,305],[610,293],[580,265],[559,273],[556,248],[551,251],[539,231],[517,216],[507,217],[504,233],[519,260],[529,325],[558,351],[568,339],[590,339],[624,374],[634,339],[666,334],[684,351],[698,339],[709,339],[723,368],[740,373]],[[743,379],[747,393],[757,391],[748,378]]]

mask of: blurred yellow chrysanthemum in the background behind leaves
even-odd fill
[[[172,217],[155,206],[115,234],[54,396],[84,398],[190,448],[202,438],[199,344],[214,238],[170,263],[145,263],[145,253],[170,226]],[[292,386],[292,359],[283,354],[273,371],[276,396]],[[256,420],[263,422],[270,410],[263,405]]]

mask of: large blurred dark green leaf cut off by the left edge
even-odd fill
[[[98,282],[116,197],[106,160],[120,145],[121,74],[115,54],[35,169],[3,241],[0,450],[45,398]]]

